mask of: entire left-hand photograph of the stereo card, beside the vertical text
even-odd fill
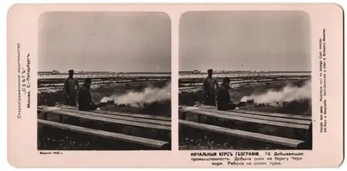
[[[39,18],[37,150],[171,150],[171,21],[163,12]]]

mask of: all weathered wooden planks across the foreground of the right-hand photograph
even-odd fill
[[[283,131],[276,134],[268,134],[268,132],[259,132],[258,128],[266,129],[273,127],[276,131],[279,129],[288,132],[293,132],[294,136],[297,134],[307,134],[307,131],[312,123],[312,118],[309,116],[291,115],[291,114],[274,114],[264,113],[259,111],[246,111],[246,110],[230,110],[219,111],[217,107],[206,105],[198,105],[196,107],[183,107],[179,109],[180,126],[192,127],[194,129],[203,129],[208,132],[216,132],[219,134],[226,134],[228,136],[236,136],[239,138],[249,138],[264,143],[271,143],[276,145],[287,146],[296,148],[300,143],[303,143],[303,138],[288,138],[284,135]],[[187,116],[197,116],[197,120],[188,119]],[[221,127],[218,123],[204,123],[203,117],[214,119],[222,119],[232,122],[252,124],[255,125],[255,130],[245,131],[242,128],[228,128]],[[233,126],[237,124],[232,124]],[[304,135],[305,137],[305,135]]]

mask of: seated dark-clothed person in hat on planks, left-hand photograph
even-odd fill
[[[80,91],[78,92],[78,110],[80,111],[92,111],[105,105],[105,103],[100,103],[99,105],[94,104],[92,101],[92,94],[90,93],[91,84],[92,80],[90,78],[86,78],[85,82],[81,86]]]

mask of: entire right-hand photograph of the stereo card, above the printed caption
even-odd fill
[[[310,16],[190,11],[179,24],[179,150],[312,150]]]

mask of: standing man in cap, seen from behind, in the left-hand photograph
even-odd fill
[[[79,89],[78,81],[74,78],[74,70],[69,70],[69,77],[65,79],[62,90],[65,94],[66,105],[76,106],[76,87]]]

